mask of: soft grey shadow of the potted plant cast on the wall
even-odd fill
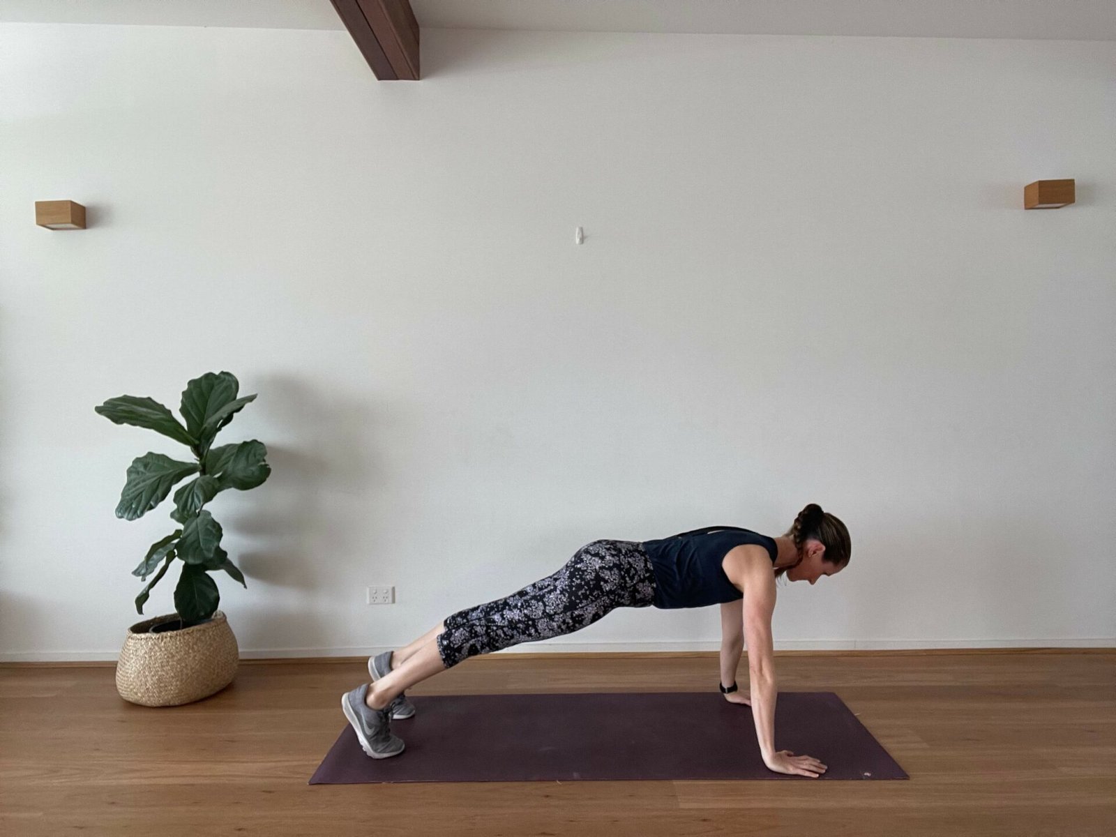
[[[241,504],[229,525],[259,543],[240,554],[248,577],[296,595],[286,606],[271,600],[253,609],[250,633],[242,631],[242,638],[252,648],[315,650],[331,644],[329,632],[338,629],[328,607],[314,606],[321,591],[348,590],[353,602],[363,604],[364,588],[358,596],[353,585],[376,578],[373,574],[354,581],[352,569],[356,557],[376,551],[375,535],[391,517],[388,487],[371,474],[367,454],[384,416],[373,415],[367,402],[306,377],[263,375],[257,381],[267,393],[268,425],[296,441],[269,446],[276,477],[268,483],[268,502]],[[378,490],[383,502],[375,502]],[[334,603],[346,604],[352,603]]]

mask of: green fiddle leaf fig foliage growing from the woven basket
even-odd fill
[[[218,432],[256,398],[256,395],[237,397],[239,389],[240,382],[230,372],[208,372],[189,382],[180,406],[184,425],[152,398],[122,395],[94,407],[114,424],[154,430],[186,445],[193,454],[192,462],[181,462],[162,453],[145,453],[128,466],[127,481],[116,506],[116,517],[125,520],[143,517],[163,502],[175,484],[196,474],[174,492],[171,519],[180,528],[152,543],[140,566],[132,570],[143,581],[155,575],[136,596],[136,613],[143,614],[152,587],[166,575],[175,558],[183,565],[174,588],[174,608],[182,620],[181,627],[205,622],[217,610],[221,597],[209,570],[224,570],[248,587],[243,574],[221,548],[221,525],[203,508],[225,489],[253,489],[271,473],[262,442],[253,439],[212,446]]]

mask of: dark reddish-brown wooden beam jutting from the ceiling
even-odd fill
[[[419,21],[410,0],[330,0],[381,81],[417,81]]]

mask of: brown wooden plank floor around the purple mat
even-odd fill
[[[908,781],[309,786],[364,665],[244,661],[165,709],[123,701],[112,664],[0,666],[0,834],[1116,835],[1116,651],[776,654],[780,691],[836,692]],[[408,694],[716,677],[715,654],[491,654]]]

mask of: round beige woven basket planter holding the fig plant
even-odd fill
[[[143,706],[179,706],[220,692],[237,675],[240,650],[221,610],[210,622],[181,631],[150,634],[152,625],[175,622],[177,614],[156,616],[128,628],[116,691]]]

